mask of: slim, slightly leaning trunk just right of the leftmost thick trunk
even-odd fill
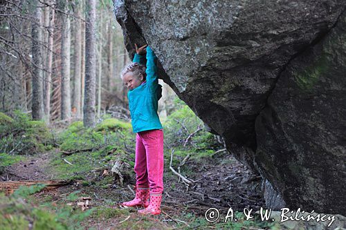
[[[55,5],[55,0],[48,1],[50,5]],[[49,123],[49,118],[51,114],[51,82],[52,82],[52,70],[53,70],[53,32],[54,32],[54,17],[55,10],[53,8],[48,8],[51,13],[48,22],[48,50],[47,50],[47,61],[46,61],[46,77],[44,81],[44,116],[46,122]]]

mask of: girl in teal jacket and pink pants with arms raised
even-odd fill
[[[158,215],[161,213],[163,192],[163,130],[158,118],[158,76],[156,56],[149,46],[136,46],[134,63],[121,73],[122,82],[129,88],[131,124],[136,133],[136,196],[123,202],[125,207],[145,207],[138,213]],[[147,48],[146,48],[147,47]],[[143,66],[144,55],[147,68]]]

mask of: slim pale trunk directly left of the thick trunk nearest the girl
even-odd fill
[[[73,75],[73,100],[72,109],[75,111],[75,117],[80,117],[81,111],[81,68],[82,68],[82,23],[81,23],[81,3],[76,3],[75,10],[75,52],[74,52],[74,75]]]

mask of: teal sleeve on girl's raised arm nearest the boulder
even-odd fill
[[[152,48],[147,46],[147,70],[145,70],[145,73],[147,73],[147,86],[149,86],[152,93],[156,93],[158,87],[157,67],[155,64],[156,58]]]

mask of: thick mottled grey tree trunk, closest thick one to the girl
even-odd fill
[[[86,1],[84,126],[95,122],[95,0]]]

